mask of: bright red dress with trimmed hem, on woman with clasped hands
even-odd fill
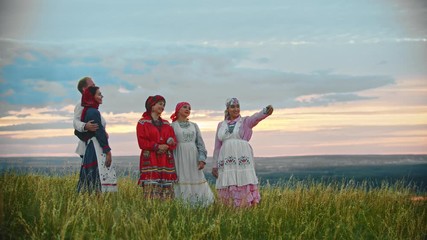
[[[152,123],[150,117],[143,117],[136,126],[141,156],[139,158],[140,177],[138,184],[155,184],[160,186],[171,185],[176,182],[175,162],[173,150],[176,145],[169,145],[166,153],[158,154],[158,146],[167,144],[169,138],[176,143],[175,133],[167,120],[163,120],[161,126]]]

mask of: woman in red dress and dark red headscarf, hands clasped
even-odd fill
[[[165,104],[160,95],[148,97],[146,111],[136,126],[141,149],[138,184],[150,198],[172,198],[173,183],[177,181],[173,159],[175,133],[169,122],[160,117]]]

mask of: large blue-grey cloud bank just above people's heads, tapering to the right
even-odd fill
[[[120,58],[113,57],[118,50]],[[28,106],[65,106],[78,101],[76,82],[87,75],[101,87],[103,110],[114,113],[144,111],[145,99],[154,94],[164,95],[171,104],[167,107],[185,100],[203,110],[222,110],[224,99],[230,96],[241,99],[248,109],[270,103],[306,106],[309,102],[296,99],[307,95],[323,95],[311,104],[328,105],[366,100],[358,92],[395,83],[381,75],[287,72],[263,68],[265,64],[245,67],[241,63],[251,54],[245,49],[147,44],[138,49],[110,48],[92,56],[79,57],[76,52],[68,49],[64,54],[48,46],[22,51],[1,69],[2,88],[7,89],[1,99]]]

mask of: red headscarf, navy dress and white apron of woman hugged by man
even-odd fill
[[[113,163],[105,166],[106,153],[111,151],[108,145],[108,135],[105,131],[106,121],[98,111],[99,104],[95,101],[98,88],[89,87],[82,95],[81,105],[84,107],[81,115],[82,122],[94,120],[99,128],[96,132],[76,132],[85,142],[86,149],[80,168],[78,192],[116,192],[117,176]]]

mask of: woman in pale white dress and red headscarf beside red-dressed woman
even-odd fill
[[[203,173],[207,151],[199,127],[188,120],[190,113],[191,105],[180,102],[171,116],[171,125],[178,142],[174,150],[178,175],[178,183],[174,187],[175,197],[191,205],[207,206],[214,201]]]

